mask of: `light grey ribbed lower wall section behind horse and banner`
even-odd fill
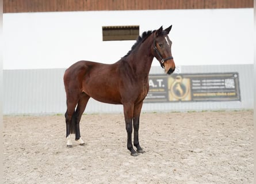
[[[253,109],[253,64],[181,66],[180,73],[238,72],[241,101],[144,103],[143,112]],[[65,69],[3,70],[3,114],[64,114]],[[163,74],[152,67],[151,74]],[[85,113],[123,112],[123,106],[90,99]]]

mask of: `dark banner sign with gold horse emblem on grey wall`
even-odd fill
[[[144,102],[240,101],[238,72],[150,75]]]

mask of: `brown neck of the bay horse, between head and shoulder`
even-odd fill
[[[143,43],[138,45],[136,51],[129,55],[129,64],[136,76],[149,74],[154,56],[152,55],[153,40],[148,37]]]

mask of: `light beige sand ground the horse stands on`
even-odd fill
[[[64,116],[3,117],[3,183],[253,183],[253,111],[143,113],[129,155],[123,114],[87,114],[66,147]]]

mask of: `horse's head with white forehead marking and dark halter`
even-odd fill
[[[172,25],[171,25],[172,26]],[[175,63],[173,56],[171,55],[171,40],[168,34],[171,30],[171,26],[163,30],[163,26],[154,32],[154,41],[152,55],[161,64],[162,68],[165,68],[167,74],[172,74],[175,70]]]

